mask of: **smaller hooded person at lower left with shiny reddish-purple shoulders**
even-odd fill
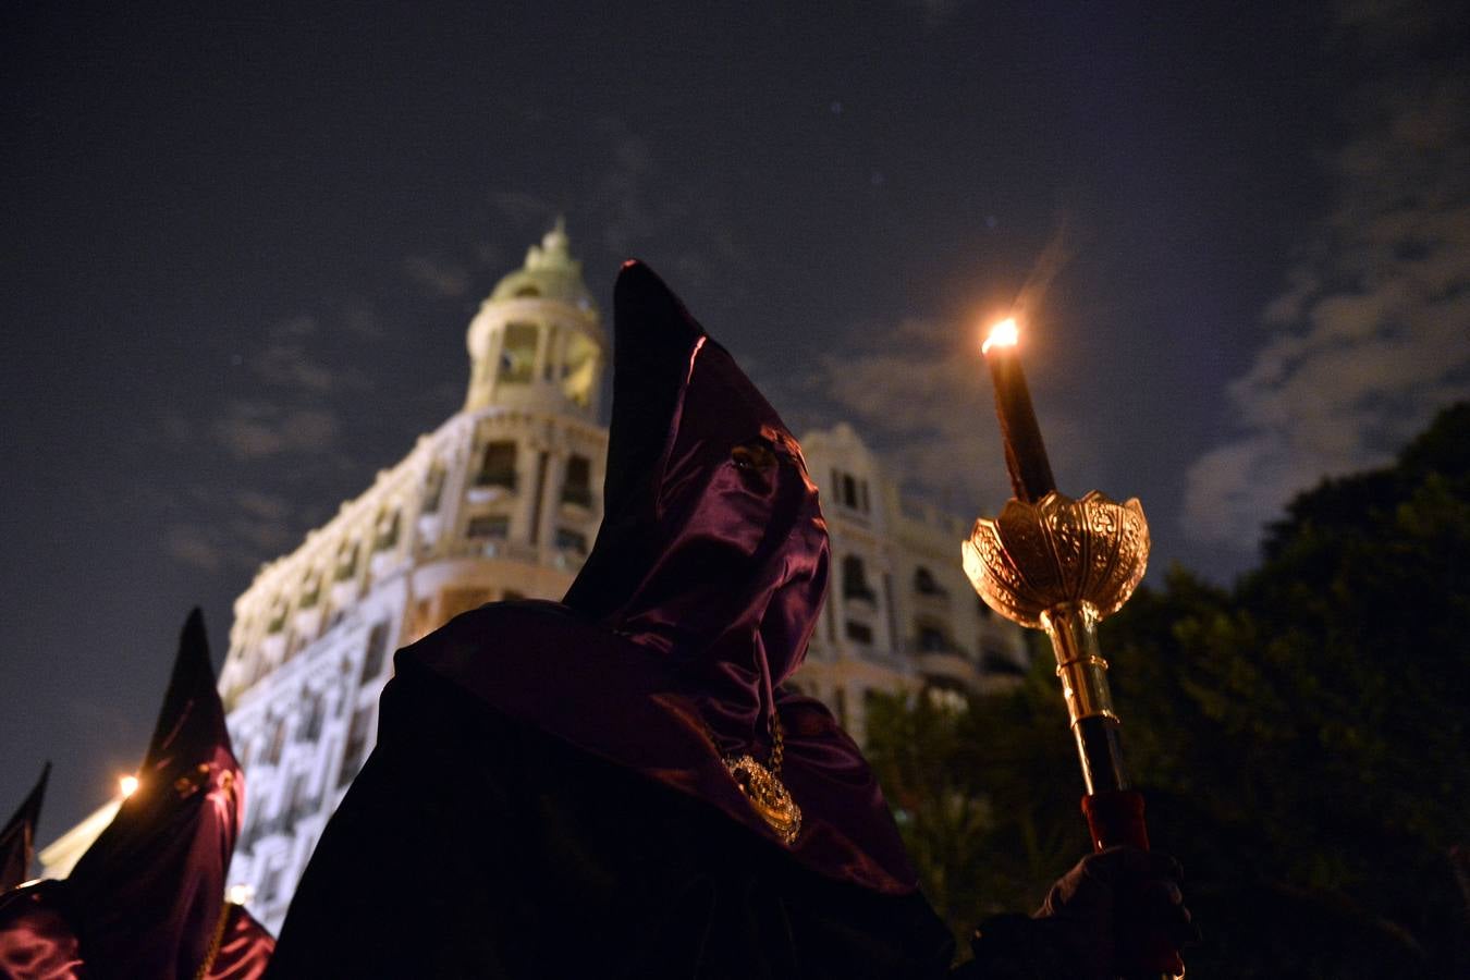
[[[0,905],[6,976],[259,976],[270,936],[225,902],[243,793],[194,610],[138,789],[65,882],[21,889]],[[44,962],[68,965],[46,973]]]

